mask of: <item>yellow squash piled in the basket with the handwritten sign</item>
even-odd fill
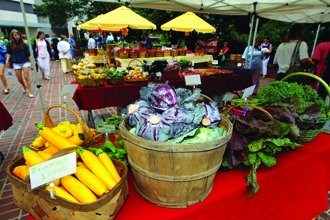
[[[121,180],[107,153],[113,150],[114,145],[111,142],[112,146],[109,146],[109,142],[106,142],[100,149],[94,151],[94,148],[91,148],[92,152],[79,147],[84,141],[80,123],[75,125],[65,121],[59,123],[54,128],[48,128],[39,123],[36,123],[36,126],[41,138],[36,138],[33,146],[38,147],[39,150],[34,151],[23,147],[23,157],[26,165],[17,166],[13,169],[13,174],[18,178],[28,182],[29,167],[51,159],[51,156],[59,150],[77,147],[79,158],[76,173],[55,180],[53,182],[54,188],[49,184],[43,185],[42,188],[47,191],[55,190],[56,196],[71,202],[90,203],[108,193]],[[47,145],[46,143],[49,143],[51,146],[42,150],[41,145]],[[56,148],[57,151],[49,151],[49,148]],[[126,150],[118,149],[116,156],[123,154],[122,151],[126,152]]]

